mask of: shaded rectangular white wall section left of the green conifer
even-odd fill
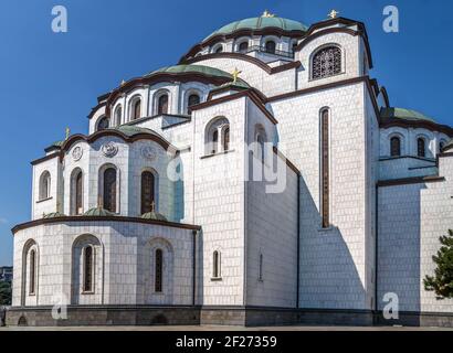
[[[420,312],[421,274],[421,191],[425,184],[379,189],[378,224],[378,309],[386,293],[396,293],[400,312]],[[404,193],[404,197],[401,196]],[[432,254],[434,255],[434,254]],[[403,314],[404,324],[420,324],[415,314]],[[383,318],[379,318],[380,321]],[[384,322],[381,322],[384,323]],[[394,322],[393,322],[394,323]]]

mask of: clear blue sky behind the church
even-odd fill
[[[157,4],[158,3],[158,4]],[[52,8],[65,6],[69,32],[51,31]],[[400,33],[382,30],[382,9],[400,11]],[[215,29],[268,9],[312,24],[336,9],[364,21],[371,76],[393,106],[453,125],[453,3],[442,0],[14,0],[0,13],[0,266],[12,263],[10,228],[30,220],[30,161],[72,132],[86,132],[96,97],[125,78],[176,64]]]

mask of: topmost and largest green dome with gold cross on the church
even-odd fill
[[[263,30],[267,28],[274,28],[274,29],[280,29],[283,31],[302,31],[306,32],[307,26],[298,21],[294,20],[288,20],[288,19],[283,19],[280,17],[259,17],[259,18],[250,18],[250,19],[244,19],[235,22],[231,22],[221,29],[217,30],[215,32],[212,32],[209,36],[204,39],[208,40],[211,36],[218,35],[218,34],[231,34],[235,31],[239,30]]]

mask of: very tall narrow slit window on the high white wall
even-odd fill
[[[322,111],[322,216],[323,228],[330,225],[329,215],[329,113],[327,109]]]

